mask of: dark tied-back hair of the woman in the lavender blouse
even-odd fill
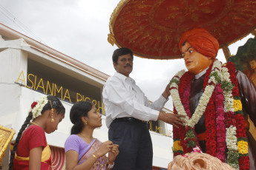
[[[82,122],[82,117],[87,117],[91,110],[93,103],[88,101],[79,101],[73,104],[70,109],[70,121],[73,123],[71,128],[71,135],[78,134],[82,131],[85,124]]]

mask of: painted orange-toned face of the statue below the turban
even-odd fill
[[[212,58],[197,52],[188,42],[182,47],[181,55],[188,71],[193,72],[195,75],[207,69],[213,62]]]

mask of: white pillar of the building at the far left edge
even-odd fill
[[[21,88],[15,84],[19,75],[25,84],[27,81],[27,52],[21,50],[24,40],[4,41],[0,38],[0,124],[13,127],[20,110]],[[11,126],[10,126],[11,125]]]

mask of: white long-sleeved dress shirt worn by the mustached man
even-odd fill
[[[157,120],[160,109],[168,101],[161,95],[157,101],[150,103],[134,79],[118,72],[108,78],[102,95],[108,128],[115,118]]]

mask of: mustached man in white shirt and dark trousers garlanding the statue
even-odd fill
[[[116,72],[108,78],[103,88],[108,138],[119,145],[113,169],[152,169],[153,149],[148,132],[148,120],[163,120],[174,126],[182,125],[181,115],[164,113],[170,95],[169,88],[154,103],[136,85],[129,75],[133,69],[134,55],[128,48],[116,49],[112,55]]]

